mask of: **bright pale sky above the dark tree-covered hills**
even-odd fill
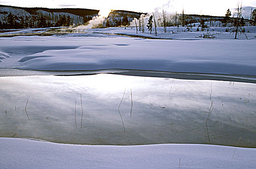
[[[224,16],[228,9],[242,6],[256,7],[256,0],[0,0],[2,5],[45,8],[86,8],[101,10],[108,14],[110,10],[127,10],[151,13],[162,8],[170,13],[206,14]]]

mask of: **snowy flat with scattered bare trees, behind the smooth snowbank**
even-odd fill
[[[199,27],[199,31],[197,31],[198,27],[192,27],[189,28],[189,30],[185,27],[167,27],[166,33],[164,32],[164,29],[161,27],[157,27],[157,36],[155,35],[155,30],[150,32],[148,29],[145,29],[145,31],[142,33],[142,31],[139,31],[138,34],[136,33],[136,27],[134,28],[104,28],[104,29],[90,29],[85,30],[83,27],[78,27],[74,29],[77,32],[99,32],[99,33],[114,33],[114,34],[122,34],[122,35],[132,35],[132,36],[141,36],[145,38],[157,38],[157,39],[170,39],[170,40],[199,40],[203,39],[200,38],[204,34],[210,35],[210,37],[213,37],[213,39],[234,39],[234,33],[226,32],[225,27],[210,27],[205,28],[204,31],[201,31],[201,27]],[[244,27],[245,28],[245,35],[241,34],[238,36],[238,39],[240,40],[246,40],[246,37],[248,40],[256,39],[256,27]],[[228,28],[230,30],[231,28]]]

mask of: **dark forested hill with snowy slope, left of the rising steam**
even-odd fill
[[[80,8],[23,8],[0,5],[0,29],[45,28],[82,25],[99,10]]]

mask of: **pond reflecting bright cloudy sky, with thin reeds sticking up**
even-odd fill
[[[114,74],[0,77],[0,137],[256,148],[256,84]]]

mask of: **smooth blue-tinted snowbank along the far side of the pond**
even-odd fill
[[[173,39],[184,39],[171,41],[105,35],[136,35],[134,28],[128,31],[124,28],[85,30],[85,35],[89,33],[89,37],[84,37],[83,33],[71,33],[51,37],[0,38],[2,56],[12,56],[9,61],[1,59],[0,67],[24,70],[125,69],[256,76],[254,33],[247,34],[251,40],[225,39],[231,35],[224,32],[220,39],[213,40],[195,38],[199,32],[166,33]],[[253,28],[251,30],[255,31]],[[91,37],[91,34],[98,37]],[[151,36],[149,33],[145,35]],[[162,38],[165,38],[164,35],[159,33]]]

